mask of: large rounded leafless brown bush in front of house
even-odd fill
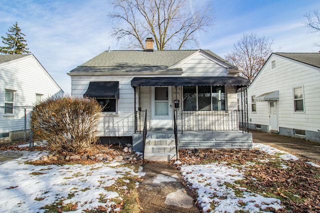
[[[57,153],[82,153],[95,142],[101,106],[92,98],[52,97],[33,107],[34,138]]]

